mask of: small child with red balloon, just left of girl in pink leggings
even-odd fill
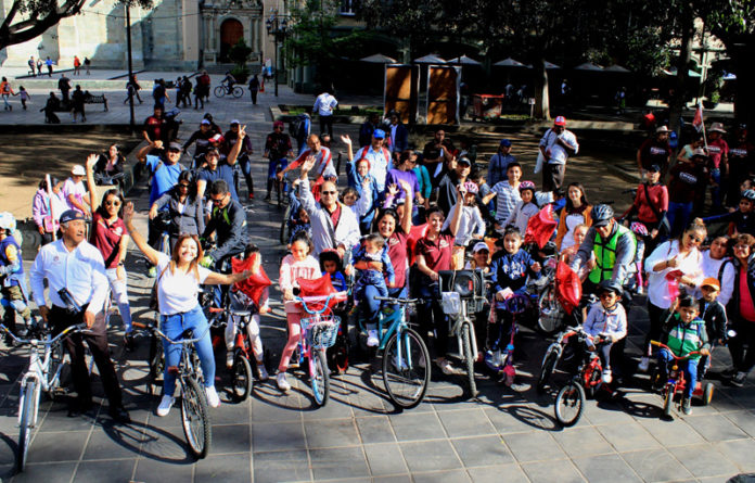
[[[263,351],[263,338],[259,336],[259,316],[270,312],[269,290],[270,279],[268,279],[265,269],[263,268],[263,255],[259,249],[254,244],[248,244],[244,251],[244,259],[231,260],[233,271],[252,270],[252,277],[243,282],[235,283],[230,292],[231,309],[234,310],[251,310],[252,317],[246,325],[246,333],[249,336],[249,342],[254,351],[254,357],[257,360],[257,376],[260,381],[267,381],[268,373],[263,361],[265,355]],[[229,317],[226,326],[226,367],[233,367],[235,344],[235,334],[240,317]]]

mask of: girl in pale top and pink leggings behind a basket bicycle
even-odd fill
[[[287,392],[291,390],[291,384],[285,379],[285,371],[289,369],[291,355],[296,349],[302,335],[302,307],[294,301],[294,289],[297,289],[298,280],[313,280],[322,276],[320,271],[320,263],[310,255],[312,251],[312,242],[305,232],[298,232],[291,244],[289,245],[291,253],[283,257],[281,263],[279,284],[283,292],[283,306],[285,317],[289,325],[289,340],[281,353],[281,361],[278,365],[278,376],[276,382],[278,389]]]

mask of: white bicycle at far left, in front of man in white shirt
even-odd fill
[[[0,330],[10,335],[18,345],[29,345],[29,365],[21,380],[21,395],[18,397],[18,453],[16,466],[18,471],[24,471],[26,456],[29,450],[31,429],[37,425],[39,412],[39,396],[41,391],[54,398],[54,393],[60,387],[61,369],[63,368],[63,339],[87,331],[87,326],[79,323],[67,327],[61,333],[51,336],[46,331],[41,339],[21,339],[0,323]]]

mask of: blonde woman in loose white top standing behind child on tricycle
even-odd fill
[[[682,287],[692,293],[703,281],[703,254],[698,247],[706,234],[705,224],[695,218],[681,237],[661,243],[645,260],[650,331],[645,338],[645,355],[639,366],[641,371],[648,370],[650,364],[650,341],[661,336],[664,310],[670,308]]]

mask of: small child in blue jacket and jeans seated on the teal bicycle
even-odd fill
[[[388,288],[396,283],[395,272],[388,256],[385,239],[378,233],[362,238],[362,242],[353,250],[353,265],[357,269],[354,284],[354,302],[360,307],[367,326],[367,345],[375,347],[378,338],[378,317],[381,303],[375,296],[388,296]],[[373,268],[373,263],[382,264],[382,269]],[[387,279],[387,284],[386,284]]]

